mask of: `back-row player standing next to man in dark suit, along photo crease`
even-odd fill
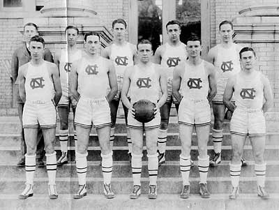
[[[57,165],[63,165],[68,163],[67,153],[68,153],[68,134],[69,134],[69,112],[70,105],[72,105],[72,110],[75,118],[75,108],[77,107],[77,101],[73,96],[70,95],[69,89],[69,74],[70,68],[72,67],[73,61],[77,61],[82,57],[82,51],[77,49],[77,38],[79,30],[77,27],[68,26],[65,29],[66,38],[67,38],[67,47],[62,49],[60,52],[56,52],[54,57],[54,63],[59,68],[59,75],[61,80],[62,87],[62,97],[59,101],[58,113],[60,119],[60,130],[59,130],[59,142],[61,146],[61,157],[57,160]],[[77,140],[77,135],[75,133],[74,125],[74,139]]]

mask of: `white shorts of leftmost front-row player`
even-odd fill
[[[56,128],[56,110],[52,101],[27,101],[24,103],[23,128]]]

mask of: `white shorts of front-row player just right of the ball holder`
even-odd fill
[[[179,124],[186,126],[208,126],[211,110],[208,100],[192,100],[183,97],[179,105]]]

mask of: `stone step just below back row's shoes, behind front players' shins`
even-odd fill
[[[13,174],[13,179],[21,179],[25,177],[24,167],[15,166],[16,163],[8,163],[0,165],[0,177],[10,177]],[[199,177],[199,169],[197,161],[194,161],[194,166],[191,167],[190,177]],[[158,170],[158,177],[181,177],[179,161],[167,161],[161,165]],[[248,165],[241,170],[241,177],[255,177],[255,163],[248,161]],[[279,163],[276,160],[266,161],[266,177],[276,177],[279,172]],[[103,177],[99,161],[89,161],[87,167],[87,177]],[[132,170],[128,161],[114,161],[112,177],[131,177]],[[45,167],[37,167],[35,177],[47,177]],[[67,178],[77,177],[75,163],[67,163],[61,167],[57,167],[56,177]],[[142,163],[142,177],[149,177],[147,162]],[[218,167],[209,167],[208,177],[229,177],[229,161],[222,161]]]

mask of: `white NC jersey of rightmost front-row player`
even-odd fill
[[[234,85],[234,99],[236,107],[248,109],[261,109],[264,103],[264,84],[261,80],[262,73],[253,72],[249,77],[239,73],[236,75]]]

